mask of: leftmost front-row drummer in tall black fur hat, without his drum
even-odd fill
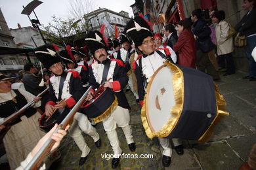
[[[45,44],[35,49],[35,56],[43,63],[45,68],[54,73],[49,79],[49,101],[45,105],[45,114],[51,116],[54,109],[71,109],[83,95],[83,88],[77,71],[64,71],[60,58],[52,44]],[[62,88],[60,90],[59,88]],[[64,100],[60,102],[60,100]],[[85,143],[81,130],[90,135],[97,147],[100,147],[100,136],[95,127],[91,126],[87,116],[75,113],[74,122],[69,129],[70,136],[81,150],[79,165],[83,165],[90,152]]]

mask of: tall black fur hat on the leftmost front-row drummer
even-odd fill
[[[45,44],[35,48],[35,56],[45,68],[49,69],[54,63],[60,62],[56,51],[58,51],[58,47],[55,44]]]

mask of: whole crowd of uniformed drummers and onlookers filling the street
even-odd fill
[[[244,0],[243,7],[248,12],[235,29],[242,31],[247,40],[245,50],[249,59],[249,75],[243,78],[254,81],[256,64],[251,52],[256,45],[256,22],[253,19],[256,14],[255,1]],[[221,69],[225,69],[223,76],[235,73],[233,37],[229,36],[231,26],[225,20],[223,10],[211,8],[209,16],[211,24],[203,19],[202,10],[196,9],[192,11],[190,18],[177,24],[167,24],[161,33],[154,34],[144,18],[135,16],[117,39],[106,40],[104,33],[89,31],[85,38],[86,45],[80,48],[68,45],[60,50],[54,44],[45,44],[35,49],[35,56],[43,63],[44,69],[37,71],[35,65],[26,63],[18,76],[1,74],[0,109],[5,112],[1,112],[0,123],[30,101],[35,101],[33,107],[11,122],[11,129],[3,138],[11,169],[18,167],[26,156],[33,157],[34,146],[38,150],[37,142],[45,135],[39,129],[41,114],[51,118],[54,110],[58,109],[60,115],[66,115],[89,86],[92,89],[87,95],[87,101],[95,99],[98,89],[104,87],[109,90],[101,92],[104,97],[97,97],[95,112],[87,110],[87,107],[80,109],[70,128],[66,130],[81,150],[79,165],[83,165],[91,149],[81,132],[91,136],[96,147],[100,148],[100,135],[94,126],[102,122],[114,151],[112,168],[115,169],[122,153],[117,126],[123,130],[129,150],[136,150],[130,126],[131,108],[124,91],[131,90],[142,107],[148,83],[165,61],[197,69],[207,73],[215,81],[221,80]],[[49,88],[48,93],[43,97],[36,97],[46,88]],[[1,131],[3,129],[5,126],[1,126]],[[53,138],[59,143],[63,135],[66,132],[60,131],[58,139]],[[173,138],[170,141],[159,137],[159,140],[163,147],[162,163],[164,167],[168,167],[172,154],[170,142],[173,142],[177,154],[182,155],[182,139]],[[52,156],[59,158],[56,154],[58,155],[58,151]],[[26,167],[26,163],[28,161],[22,162],[19,169]]]

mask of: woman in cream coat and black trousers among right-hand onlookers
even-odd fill
[[[211,18],[215,26],[217,55],[226,60],[226,73],[223,76],[232,75],[235,73],[234,59],[232,52],[234,51],[233,38],[228,36],[230,25],[225,21],[225,12],[218,10],[213,13]]]

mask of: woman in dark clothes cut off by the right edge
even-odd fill
[[[256,46],[256,0],[244,0],[242,7],[247,10],[242,20],[236,24],[236,31],[240,31],[246,37],[245,52],[249,59],[249,75],[244,76],[244,79],[249,79],[250,81],[256,80],[256,62],[251,56],[253,48]]]

